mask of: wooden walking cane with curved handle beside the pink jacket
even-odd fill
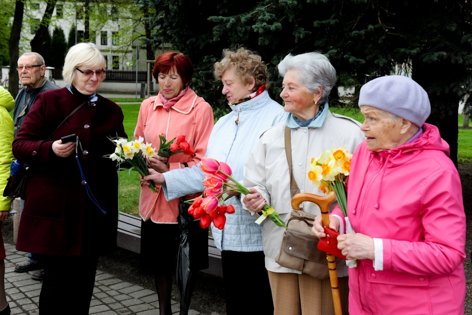
[[[316,203],[321,209],[321,220],[323,226],[329,227],[329,205],[336,200],[336,194],[334,192],[329,193],[327,196],[318,196],[314,194],[296,194],[292,198],[292,208],[298,210],[300,204],[304,201],[310,201]],[[336,272],[336,261],[334,256],[326,253],[328,259],[329,279],[331,280],[331,293],[333,296],[334,313],[336,315],[342,315],[341,307],[341,296],[339,294],[338,284],[338,272]]]

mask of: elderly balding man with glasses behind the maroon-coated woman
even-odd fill
[[[51,83],[45,78],[46,66],[44,58],[37,52],[26,52],[18,59],[18,77],[23,88],[18,92],[15,99],[15,108],[13,109],[13,122],[15,124],[15,137],[21,128],[26,114],[35,102],[36,96],[44,91],[59,88],[59,86]],[[23,210],[24,200],[20,202],[20,211]],[[16,272],[28,272],[38,270],[31,274],[35,280],[43,279],[43,265],[38,255],[30,253],[29,261],[18,263],[15,266]]]

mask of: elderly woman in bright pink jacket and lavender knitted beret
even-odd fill
[[[459,174],[439,130],[424,123],[426,91],[403,76],[380,77],[360,90],[366,141],[348,182],[355,233],[338,247],[349,269],[349,313],[463,314],[465,214]],[[330,228],[345,231],[335,209]],[[325,237],[321,219],[313,233]]]

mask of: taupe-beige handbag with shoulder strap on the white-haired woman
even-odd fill
[[[292,148],[290,128],[285,127],[285,153],[290,173],[291,197],[299,193],[298,185],[292,174]],[[313,235],[312,227],[316,215],[301,210],[292,210],[284,232],[282,246],[276,263],[282,267],[301,271],[318,279],[329,277],[326,253],[317,248],[319,239]],[[336,259],[336,262],[338,259]]]

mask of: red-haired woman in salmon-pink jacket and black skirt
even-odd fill
[[[214,119],[211,106],[189,88],[193,75],[192,62],[182,53],[166,52],[156,58],[152,75],[159,84],[159,93],[141,104],[134,139],[143,137],[146,143],[158,147],[159,135],[163,135],[167,141],[184,135],[194,150],[192,155],[151,157],[148,160],[149,168],[163,173],[193,167],[205,156]],[[144,267],[154,272],[160,315],[170,315],[172,272],[176,268],[177,239],[181,233],[177,224],[181,199],[166,201],[161,187],[157,186],[156,189],[157,193],[153,193],[149,186],[141,186],[141,257]],[[198,195],[183,198],[189,200]],[[208,230],[201,229],[198,221],[191,225],[191,253],[196,254],[191,260],[192,271],[206,269]],[[191,279],[190,283],[189,299],[195,280]],[[181,315],[187,312],[188,309],[180,310]]]

